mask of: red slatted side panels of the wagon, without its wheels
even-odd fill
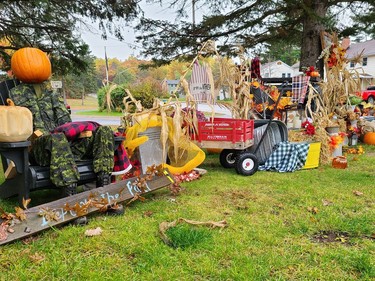
[[[198,122],[198,134],[192,139],[202,141],[246,142],[253,139],[254,120],[214,118]]]

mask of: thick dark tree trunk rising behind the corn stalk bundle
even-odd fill
[[[304,1],[305,5],[310,1]],[[302,67],[315,66],[319,68],[321,77],[323,77],[324,62],[323,59],[316,61],[316,58],[322,53],[322,44],[320,34],[324,31],[323,24],[319,23],[319,17],[324,17],[327,13],[328,5],[326,1],[311,1],[309,8],[315,13],[305,11],[301,44],[300,70]]]

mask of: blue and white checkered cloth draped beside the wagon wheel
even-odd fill
[[[307,158],[310,144],[283,141],[275,145],[270,157],[259,166],[261,171],[294,172],[301,169]]]

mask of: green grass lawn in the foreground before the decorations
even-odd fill
[[[208,173],[176,197],[164,188],[124,215],[0,246],[0,280],[375,280],[375,147],[365,151],[349,155],[345,170],[250,177],[207,155]],[[228,226],[181,224],[167,231],[168,246],[159,224],[178,218]],[[85,237],[96,227],[102,235]]]

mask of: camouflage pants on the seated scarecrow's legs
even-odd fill
[[[41,136],[32,143],[31,158],[41,166],[50,166],[50,179],[57,187],[79,180],[76,161],[93,159],[94,172],[112,172],[114,165],[113,132],[99,127],[91,137],[69,143],[63,133]]]

